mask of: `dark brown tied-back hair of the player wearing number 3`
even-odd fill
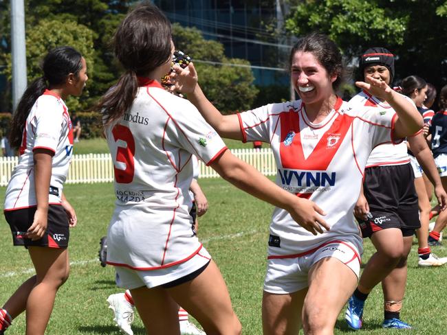
[[[137,76],[147,76],[171,60],[171,23],[155,5],[142,3],[120,23],[113,48],[126,72],[94,107],[104,115],[105,126],[131,107],[138,93]]]

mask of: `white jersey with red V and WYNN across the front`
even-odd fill
[[[283,189],[309,198],[327,214],[331,228],[312,235],[287,211],[275,208],[270,225],[269,256],[306,253],[331,240],[349,238],[362,251],[354,222],[362,173],[371,150],[391,141],[394,111],[351,108],[340,98],[323,122],[312,124],[301,100],[269,104],[239,114],[244,141],[270,142]]]

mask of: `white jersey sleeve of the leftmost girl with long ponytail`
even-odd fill
[[[63,124],[63,106],[55,97],[43,96],[36,106],[36,139],[33,150],[47,149],[56,152]]]

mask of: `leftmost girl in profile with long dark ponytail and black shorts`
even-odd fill
[[[76,212],[63,195],[72,156],[73,132],[65,100],[87,81],[85,59],[72,47],[52,49],[43,76],[21,97],[10,141],[19,148],[4,213],[15,246],[25,246],[36,269],[0,308],[0,334],[26,310],[26,334],[43,335],[58,288],[69,273],[69,227]]]

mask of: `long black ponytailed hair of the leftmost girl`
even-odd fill
[[[43,59],[43,76],[34,80],[23,93],[17,109],[12,116],[10,145],[19,148],[22,143],[23,129],[32,106],[45,89],[60,85],[67,80],[69,73],[78,75],[82,69],[83,56],[72,47],[56,47]]]

